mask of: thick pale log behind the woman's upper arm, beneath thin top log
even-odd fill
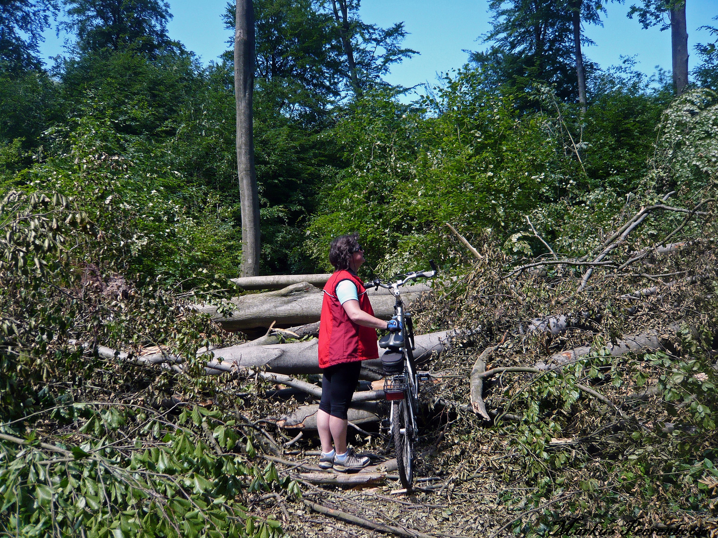
[[[430,289],[426,284],[407,286],[401,298],[405,306],[409,306],[421,293]],[[394,315],[394,298],[387,290],[379,288],[379,291],[374,291],[372,288],[367,293],[376,317],[389,319]],[[210,314],[225,331],[266,328],[273,323],[286,328],[319,321],[323,296],[321,288],[301,282],[278,291],[234,297],[230,300],[234,310],[226,317],[218,314],[216,306],[197,306],[197,310]]]

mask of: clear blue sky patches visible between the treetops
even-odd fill
[[[628,1],[628,5],[633,1]],[[604,26],[587,26],[585,33],[596,45],[584,48],[584,55],[601,67],[618,65],[623,56],[635,56],[638,69],[652,75],[656,65],[671,69],[671,32],[657,28],[644,30],[636,19],[625,16],[627,4],[607,4]],[[169,23],[169,36],[185,44],[200,56],[206,65],[227,48],[230,32],[223,28],[220,15],[226,0],[169,0],[174,18]],[[411,87],[435,82],[437,72],[461,67],[467,60],[463,49],[484,49],[477,40],[490,29],[487,0],[363,0],[360,14],[365,22],[388,27],[404,21],[409,36],[405,45],[419,51],[411,60],[393,67],[388,82]],[[689,67],[696,64],[694,45],[709,42],[708,32],[697,30],[718,15],[718,0],[688,0],[686,19],[689,34]],[[67,35],[55,37],[54,30],[45,32],[42,44],[45,58],[62,54]]]

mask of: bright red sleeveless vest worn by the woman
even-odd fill
[[[356,285],[359,308],[374,315],[364,283],[348,270],[335,271],[324,287],[322,318],[319,324],[320,368],[379,357],[376,330],[351,321],[337,299],[337,284],[342,280],[351,280]]]

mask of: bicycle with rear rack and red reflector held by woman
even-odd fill
[[[429,261],[430,271],[406,273],[396,281],[373,280],[376,289],[385,288],[395,298],[394,318],[401,322],[401,331],[391,332],[379,340],[379,347],[386,349],[381,357],[384,378],[384,395],[391,402],[389,411],[389,436],[393,437],[399,480],[406,491],[411,491],[414,481],[414,442],[419,438],[415,412],[419,404],[419,381],[429,378],[420,374],[414,362],[414,324],[411,313],[404,310],[399,288],[418,278],[433,278],[439,270],[434,260]]]

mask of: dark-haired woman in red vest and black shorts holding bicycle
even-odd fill
[[[319,466],[345,472],[369,464],[369,458],[355,456],[347,447],[347,410],[359,381],[361,362],[379,356],[376,329],[397,330],[398,323],[374,316],[364,283],[357,276],[366,261],[358,234],[332,240],[329,261],[335,272],[324,287],[319,329],[319,365],[323,372],[317,413],[322,440]]]

